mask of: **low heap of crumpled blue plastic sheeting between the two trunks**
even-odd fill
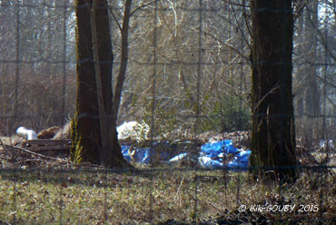
[[[122,145],[122,152],[127,161],[149,164],[156,161],[164,161],[175,164],[181,161],[193,161],[199,166],[208,169],[237,169],[247,170],[251,151],[237,149],[232,140],[208,142],[201,146],[201,152],[193,157],[181,146],[192,144],[191,142],[176,143],[167,141],[153,142],[151,146],[136,147],[135,145]]]

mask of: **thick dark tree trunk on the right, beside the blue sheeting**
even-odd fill
[[[263,167],[254,174],[293,179],[292,1],[252,0],[252,30],[251,165]]]

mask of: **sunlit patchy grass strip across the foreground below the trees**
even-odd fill
[[[302,172],[294,184],[280,187],[250,181],[247,172],[3,170],[0,219],[4,224],[210,224],[215,220],[227,224],[229,219],[250,217],[237,211],[242,204],[282,203],[313,204],[319,210],[255,212],[256,217],[279,224],[294,219],[331,224],[336,212],[334,184],[330,173],[308,172]]]

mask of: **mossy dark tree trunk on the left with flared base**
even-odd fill
[[[124,167],[124,160],[117,140],[114,124],[111,124],[113,107],[112,65],[113,52],[109,30],[109,17],[106,1],[98,1],[95,15],[96,33],[91,24],[91,8],[93,0],[76,0],[77,16],[76,51],[77,51],[77,104],[73,121],[71,158],[75,162],[89,161],[103,163],[105,167]],[[104,112],[100,112],[98,104],[97,83],[94,69],[93,34],[97,39],[97,62],[101,77]],[[99,84],[99,83],[98,83]],[[108,154],[102,146],[101,114],[108,127]]]

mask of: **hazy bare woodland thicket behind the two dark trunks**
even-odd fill
[[[115,21],[123,20],[124,1],[109,4],[116,77],[122,37]],[[154,136],[168,139],[251,130],[248,3],[199,4],[166,0],[154,11],[151,1],[133,1],[118,124],[144,121]],[[306,144],[335,139],[336,2],[296,1],[294,10],[297,137]],[[0,1],[0,38],[1,135],[20,125],[38,132],[72,118],[74,3]]]

